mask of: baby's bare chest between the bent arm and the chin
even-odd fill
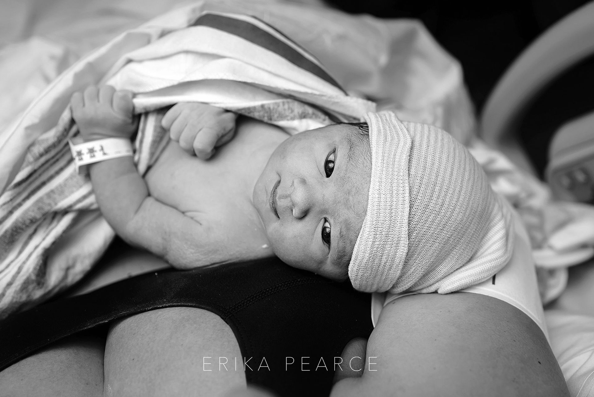
[[[150,194],[220,234],[215,238],[243,245],[246,259],[271,256],[251,198],[268,158],[287,137],[273,125],[238,118],[235,137],[209,160],[170,141],[145,177]]]

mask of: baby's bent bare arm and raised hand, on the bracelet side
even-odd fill
[[[132,94],[113,87],[89,87],[71,99],[72,116],[85,141],[131,138],[138,128],[132,114]],[[150,196],[132,157],[90,165],[97,203],[115,232],[187,269],[216,261],[221,248],[205,225]],[[213,244],[214,242],[214,244]]]

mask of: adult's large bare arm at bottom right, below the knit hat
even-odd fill
[[[381,312],[366,355],[366,363],[377,364],[366,364],[360,378],[340,380],[331,397],[569,395],[536,323],[485,295],[394,300]]]

